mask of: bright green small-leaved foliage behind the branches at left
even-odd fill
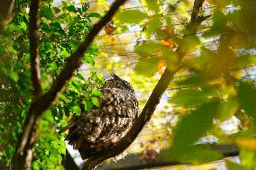
[[[1,36],[0,163],[6,165],[3,168],[10,166],[32,98],[27,6],[28,3],[15,1],[13,22]],[[63,2],[60,6],[53,6],[50,0],[41,3],[40,14],[42,88],[47,90],[65,65],[65,58],[78,48],[78,44],[85,40],[88,31],[92,29],[91,18],[99,18],[100,15],[88,13],[88,4],[77,7]],[[97,47],[92,44],[83,60],[93,67],[94,57],[97,55]],[[82,101],[79,100],[87,102],[87,110],[89,104],[98,104],[97,97],[101,94],[97,88],[103,84],[101,76],[93,72],[89,79],[77,73],[69,82],[56,107],[43,116],[39,130],[41,136],[37,140],[33,157],[33,169],[63,168],[61,160],[66,154],[66,145],[63,135],[58,135],[56,129],[67,125],[65,118],[69,115],[82,112],[78,105]]]

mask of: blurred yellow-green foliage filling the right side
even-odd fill
[[[167,10],[160,3],[167,3]],[[171,108],[170,112],[178,117],[178,122],[169,122],[171,127],[166,125],[172,130],[168,157],[184,163],[216,160],[222,154],[204,144],[233,143],[242,149],[243,162],[242,166],[227,162],[227,167],[250,169],[255,166],[251,164],[255,133],[233,136],[230,133],[237,131],[226,132],[223,123],[235,119],[238,131],[255,128],[256,39],[251,27],[255,7],[250,6],[251,0],[207,3],[215,8],[200,12],[201,16],[211,15],[203,17],[204,21],[196,28],[188,22],[187,11],[192,9],[192,1],[146,0],[147,20],[126,22],[122,26],[128,30],[134,24],[142,28],[142,40],[134,47],[141,55],[135,73],[149,77],[160,76],[165,67],[175,71],[177,78],[169,85],[172,90],[166,92],[169,105],[165,108]],[[119,26],[123,18],[116,19]],[[163,116],[162,112],[156,114]],[[171,115],[165,114],[167,119]],[[207,139],[208,136],[214,139]]]

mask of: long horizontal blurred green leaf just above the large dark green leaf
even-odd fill
[[[170,103],[193,106],[209,102],[215,96],[218,96],[215,88],[203,88],[200,90],[196,88],[182,89],[171,97]]]

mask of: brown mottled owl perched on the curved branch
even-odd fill
[[[78,149],[83,159],[111,147],[127,133],[138,117],[133,86],[119,76],[106,80],[100,89],[100,106],[71,119],[65,140]]]

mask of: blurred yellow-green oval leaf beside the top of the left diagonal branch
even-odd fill
[[[133,10],[123,10],[121,13],[118,13],[116,19],[121,22],[128,22],[128,23],[138,23],[142,20],[146,19],[148,15],[143,13],[138,9]]]

